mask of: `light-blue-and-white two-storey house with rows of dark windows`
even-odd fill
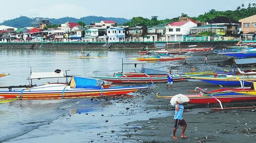
[[[109,37],[109,42],[123,42],[125,31],[122,27],[110,27],[106,30],[106,36]]]

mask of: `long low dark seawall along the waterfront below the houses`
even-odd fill
[[[197,45],[197,47],[216,47],[225,48],[226,46],[234,46],[238,41],[199,41],[199,42],[181,42],[181,48],[187,48],[189,45]],[[163,43],[163,42],[157,42]],[[165,42],[166,43],[166,42]],[[31,48],[34,43],[0,43],[0,48]],[[106,42],[38,42],[33,48],[108,48]],[[144,46],[154,48],[154,42],[115,42],[111,43],[111,48],[129,48],[140,49]],[[179,44],[175,45],[176,48]]]

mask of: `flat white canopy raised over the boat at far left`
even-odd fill
[[[40,79],[40,78],[58,78],[66,77],[63,71],[56,72],[32,72],[29,79]]]

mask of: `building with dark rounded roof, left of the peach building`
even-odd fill
[[[218,16],[214,19],[207,21],[207,25],[223,25],[226,26],[226,36],[238,36],[238,28],[241,24],[226,16]]]

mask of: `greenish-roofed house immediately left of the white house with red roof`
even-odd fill
[[[147,35],[144,41],[165,41],[165,24],[147,27]]]

